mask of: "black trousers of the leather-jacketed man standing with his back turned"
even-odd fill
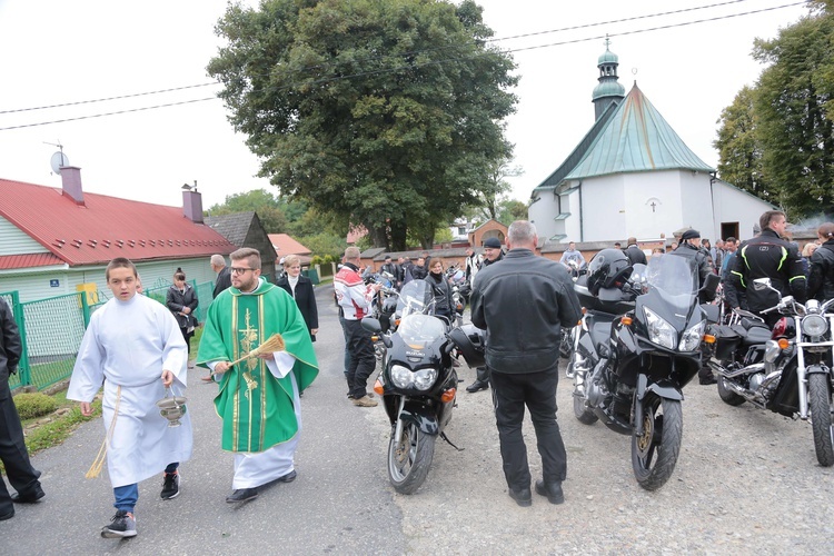
[[[565,480],[567,454],[556,423],[558,369],[543,373],[507,374],[490,369],[495,420],[498,426],[504,476],[514,490],[530,487],[527,446],[522,435],[524,408],[530,410],[545,483]]]

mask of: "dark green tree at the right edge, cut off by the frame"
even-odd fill
[[[756,40],[770,62],[754,96],[757,138],[768,181],[794,217],[834,206],[834,13],[827,8]]]

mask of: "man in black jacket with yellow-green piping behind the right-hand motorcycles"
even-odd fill
[[[778,296],[770,289],[755,289],[752,284],[756,278],[770,278],[771,286],[782,296],[793,295],[804,304],[806,299],[805,272],[798,249],[782,239],[787,227],[785,214],[781,210],[768,210],[758,221],[762,234],[748,239],[736,252],[729,275],[729,287],[725,288],[727,302],[732,308],[741,307],[738,291],[747,294],[747,309],[759,314],[778,302]],[[780,319],[777,312],[762,315],[768,326]]]

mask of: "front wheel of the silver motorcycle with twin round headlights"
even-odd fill
[[[397,443],[391,430],[388,444],[388,478],[399,494],[413,494],[428,476],[435,455],[435,439],[414,423],[403,424],[403,438]]]

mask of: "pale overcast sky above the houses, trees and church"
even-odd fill
[[[513,196],[524,201],[593,125],[590,97],[606,33],[626,92],[636,80],[714,167],[716,120],[762,71],[749,56],[754,38],[774,38],[807,13],[791,0],[478,3],[503,39],[495,43],[514,50],[522,77],[507,136],[524,170],[512,180]],[[647,17],[717,3],[727,6]],[[214,26],[225,9],[222,0],[0,0],[0,178],[60,187],[50,168],[58,148],[49,145],[60,142],[81,168],[86,191],[179,206],[182,183],[197,180],[208,208],[229,193],[269,188],[255,177],[256,157],[215,98],[218,87],[207,85],[206,66],[220,44]],[[634,19],[619,21],[627,18]],[[707,19],[713,21],[683,24]],[[563,30],[578,26],[592,27]],[[536,34],[509,39],[528,33]],[[183,87],[191,88],[20,111]],[[182,103],[95,117],[175,102]],[[79,117],[85,119],[8,129]]]

